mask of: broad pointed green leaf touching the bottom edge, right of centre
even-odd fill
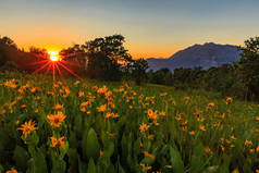
[[[181,158],[180,152],[174,149],[172,146],[169,148],[170,157],[171,157],[171,164],[173,166],[174,172],[184,173],[184,162]]]

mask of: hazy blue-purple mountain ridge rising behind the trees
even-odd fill
[[[211,66],[220,66],[239,59],[240,51],[237,46],[218,45],[207,42],[203,45],[194,45],[184,50],[174,53],[168,59],[147,59],[149,70],[160,70],[168,67],[171,71],[177,67],[202,66],[205,70]]]

